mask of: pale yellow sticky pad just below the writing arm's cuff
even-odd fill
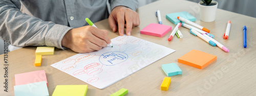
[[[53,55],[54,47],[37,47],[35,55]]]

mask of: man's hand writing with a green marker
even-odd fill
[[[78,53],[100,50],[111,43],[108,31],[93,26],[71,29],[63,37],[61,45]]]

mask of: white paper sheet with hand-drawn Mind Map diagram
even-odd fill
[[[79,53],[51,66],[103,89],[175,51],[133,36],[111,41],[113,48]]]

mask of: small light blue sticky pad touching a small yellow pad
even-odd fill
[[[162,65],[162,70],[167,76],[182,74],[181,69],[176,65],[176,63],[168,63],[165,65]]]

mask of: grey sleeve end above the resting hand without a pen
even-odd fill
[[[110,6],[113,10],[117,6],[125,6],[136,11],[138,8],[139,2],[137,0],[111,0]]]

